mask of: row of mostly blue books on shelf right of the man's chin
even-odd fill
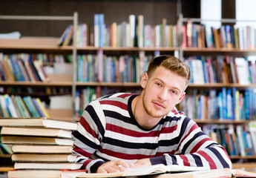
[[[253,120],[256,116],[256,90],[187,90],[179,109],[192,119]]]

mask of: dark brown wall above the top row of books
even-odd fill
[[[177,1],[0,1],[0,15],[19,16],[72,16],[79,13],[80,23],[93,24],[95,13],[105,14],[105,24],[128,21],[128,16],[142,14],[145,24],[160,24],[167,18],[168,24],[177,22]],[[186,17],[200,17],[200,0],[182,1],[182,13]],[[70,22],[58,21],[15,21],[0,20],[0,33],[20,31],[22,36],[56,36],[62,35]]]

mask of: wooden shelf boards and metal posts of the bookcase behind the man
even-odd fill
[[[9,18],[17,18],[18,16],[10,16]],[[0,16],[0,18],[6,18],[3,16]],[[30,19],[33,19],[33,16],[29,17]],[[77,14],[74,13],[73,16],[66,17],[68,20],[72,20],[74,27],[76,28],[78,23],[78,17]],[[188,19],[182,19],[182,16],[180,16],[181,19],[179,19],[178,23],[179,25],[182,25],[184,22],[186,22]],[[45,20],[53,20],[52,18],[46,18]],[[56,18],[54,20],[62,20],[62,18]],[[65,20],[67,20],[65,19]],[[193,22],[197,22],[198,19],[192,19]],[[223,21],[224,22],[224,21]],[[181,29],[181,28],[180,28]],[[73,33],[73,39],[76,40],[76,33]],[[178,36],[181,36],[181,31],[179,31]],[[221,55],[230,55],[230,56],[248,56],[248,55],[255,55],[256,50],[240,50],[240,49],[228,49],[228,48],[199,48],[199,47],[93,47],[93,46],[87,46],[87,47],[77,47],[76,45],[73,46],[67,46],[67,47],[59,47],[56,45],[59,39],[57,38],[39,38],[39,37],[24,37],[19,40],[0,40],[0,52],[4,53],[16,53],[19,52],[33,52],[33,53],[72,53],[73,55],[73,69],[76,71],[77,68],[77,62],[76,56],[82,55],[82,54],[94,54],[96,55],[99,53],[99,51],[102,51],[102,53],[109,55],[109,56],[120,56],[123,54],[129,54],[134,56],[140,56],[142,55],[155,55],[156,53],[167,53],[174,55],[176,51],[179,52],[180,58],[183,59],[184,56],[195,56],[195,55],[206,55],[206,56],[216,56],[217,54]],[[76,42],[73,42],[76,43]],[[110,88],[110,89],[121,89],[121,90],[138,90],[140,89],[140,84],[137,82],[77,82],[77,75],[76,72],[73,72],[73,75],[53,75],[50,76],[50,82],[0,82],[1,86],[12,86],[12,87],[22,87],[22,88],[28,88],[28,87],[37,87],[37,88],[53,88],[53,87],[68,87],[71,88],[72,98],[73,101],[76,98],[76,90],[82,90],[85,88],[94,88],[94,89],[100,89],[104,90],[104,88]],[[209,84],[194,84],[191,83],[188,86],[188,90],[221,90],[221,88],[237,88],[237,90],[246,90],[248,88],[256,88],[256,84],[249,84],[249,85],[240,85],[237,83],[209,83]],[[73,104],[75,105],[75,104]],[[56,110],[56,111],[50,111],[48,110],[48,113],[50,113],[51,116],[57,118],[57,119],[77,119],[76,114],[74,113],[75,109],[73,110]],[[234,122],[232,120],[223,120],[223,121],[217,121],[217,120],[200,120],[196,119],[196,122],[199,125],[208,125],[208,124],[217,124],[217,125],[246,125],[249,121],[237,121]],[[255,156],[232,156],[232,159],[255,159]]]

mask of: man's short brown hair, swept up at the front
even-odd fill
[[[188,86],[190,79],[191,79],[191,72],[188,65],[181,61],[180,59],[177,59],[174,56],[168,56],[168,55],[162,55],[157,56],[153,59],[152,62],[148,65],[148,77],[150,78],[152,73],[154,73],[154,70],[157,69],[157,67],[163,66],[168,70],[171,70],[174,73],[177,73],[179,76],[182,76],[186,79],[186,87]]]

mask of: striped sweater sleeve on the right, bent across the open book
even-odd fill
[[[181,121],[180,121],[181,122]],[[209,169],[232,168],[232,162],[222,145],[214,142],[191,119],[177,122],[177,139],[180,140],[174,154],[151,158],[152,165],[187,165]]]

